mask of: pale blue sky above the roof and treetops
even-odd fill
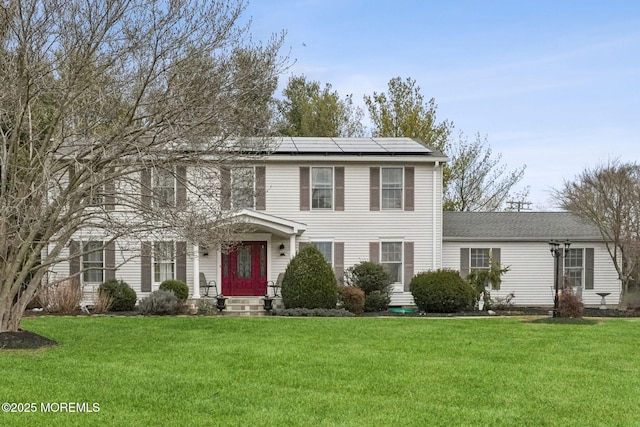
[[[534,210],[585,168],[640,161],[640,1],[251,0],[245,17],[256,40],[287,32],[278,94],[304,74],[364,106],[411,77],[454,132],[527,165]]]

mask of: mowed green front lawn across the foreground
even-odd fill
[[[42,317],[0,425],[640,424],[640,320]],[[99,412],[43,413],[41,403]]]

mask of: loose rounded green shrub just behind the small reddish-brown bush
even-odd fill
[[[363,261],[347,269],[345,281],[364,292],[364,311],[386,311],[389,308],[393,279],[383,265]]]

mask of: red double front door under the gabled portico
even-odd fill
[[[260,296],[267,291],[267,242],[242,242],[222,254],[222,293]]]

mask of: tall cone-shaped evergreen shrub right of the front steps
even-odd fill
[[[316,247],[304,247],[289,261],[282,278],[281,293],[286,308],[336,307],[336,276]]]

